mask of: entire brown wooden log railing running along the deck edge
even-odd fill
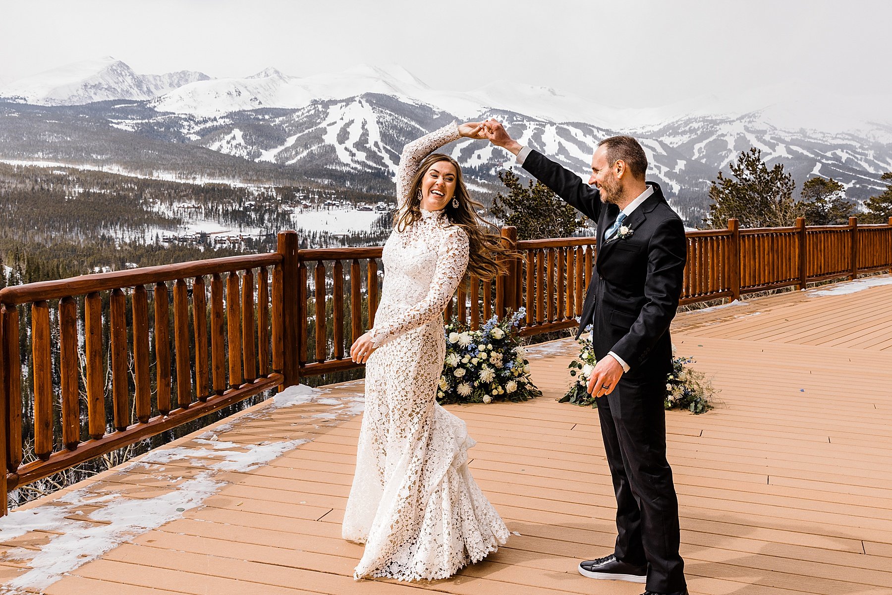
[[[577,326],[595,238],[517,241],[506,227],[502,240],[517,255],[508,274],[472,277],[446,317],[476,328],[524,307],[522,335]],[[682,304],[892,269],[892,219],[829,227],[798,219],[794,227],[758,229],[731,219],[726,229],[688,232],[687,244]],[[382,248],[297,246],[297,235],[283,232],[268,254],[0,291],[0,461],[7,471],[0,473],[0,516],[18,485],[301,376],[359,368],[349,347],[375,324]],[[22,358],[30,358],[29,376]]]

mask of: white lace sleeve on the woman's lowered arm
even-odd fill
[[[467,233],[461,227],[452,227],[442,240],[437,254],[437,266],[431,287],[425,299],[401,312],[382,326],[375,326],[369,331],[372,344],[377,348],[392,341],[413,328],[431,322],[440,316],[446,303],[458,288],[461,278],[465,276],[468,259]]]

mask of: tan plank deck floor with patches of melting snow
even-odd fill
[[[667,414],[691,593],[892,593],[892,278],[856,283],[677,318],[677,351],[722,390],[707,415]],[[637,595],[576,573],[615,539],[597,412],[556,401],[574,342],[529,351],[541,399],[450,408],[515,532],[450,580],[351,579],[359,382],[268,401],[21,507],[0,520],[0,591]]]

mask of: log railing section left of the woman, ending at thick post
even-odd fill
[[[19,485],[296,383],[296,254],[286,232],[268,254],[0,291],[0,515]]]

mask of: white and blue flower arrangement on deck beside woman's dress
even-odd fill
[[[475,331],[455,318],[444,326],[446,361],[437,401],[443,405],[526,401],[541,395],[530,379],[530,364],[517,340],[524,316],[524,308],[501,321],[493,316]]]

